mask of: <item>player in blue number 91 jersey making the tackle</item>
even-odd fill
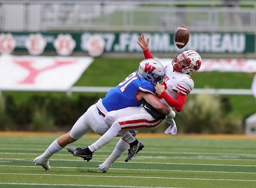
[[[91,130],[98,135],[103,135],[107,132],[109,126],[104,122],[104,117],[107,112],[126,107],[139,107],[142,104],[142,99],[145,99],[160,113],[166,115],[172,114],[171,112],[173,111],[171,111],[171,108],[166,104],[161,103],[154,96],[154,86],[163,77],[164,67],[158,60],[142,60],[137,71],[130,74],[118,86],[112,88],[105,97],[89,107],[76,121],[68,133],[57,138],[42,155],[38,156],[33,161],[36,165],[40,165],[45,170],[49,170],[50,157],[58,151],[61,151],[67,144],[71,144],[76,140],[83,138],[83,136]],[[159,121],[154,121],[152,123],[156,126]],[[143,146],[142,142],[138,142],[129,131],[120,132],[118,136],[123,137],[126,141],[120,139],[117,143],[119,145],[117,158],[121,156],[129,146],[138,146],[137,148],[139,149]],[[80,156],[87,161],[92,159],[92,155],[81,155],[81,152],[83,151],[74,151],[72,153],[74,156]]]

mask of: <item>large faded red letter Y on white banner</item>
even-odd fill
[[[47,70],[55,69],[63,65],[69,65],[75,62],[76,60],[55,60],[53,65],[38,70],[32,67],[34,60],[14,60],[14,63],[19,64],[21,67],[24,67],[26,70],[29,71],[28,76],[23,81],[20,81],[19,84],[34,84],[38,74],[45,72]]]

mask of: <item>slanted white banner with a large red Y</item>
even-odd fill
[[[0,56],[0,90],[67,91],[92,57]]]

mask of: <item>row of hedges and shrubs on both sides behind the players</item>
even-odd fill
[[[0,97],[0,130],[70,130],[99,98],[98,95],[31,95],[17,103],[12,95]],[[179,133],[242,133],[241,124],[237,126],[231,112],[232,105],[228,98],[194,95],[187,100],[182,113],[176,113],[175,122]],[[163,121],[159,128],[151,132],[164,132],[167,127],[166,121]]]

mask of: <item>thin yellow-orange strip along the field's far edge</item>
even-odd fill
[[[0,136],[56,136],[59,137],[61,135],[66,134],[66,132],[22,132],[22,131],[2,131],[0,132]],[[86,137],[100,137],[95,133],[88,133]],[[206,134],[179,134],[179,135],[171,135],[164,133],[138,133],[138,138],[164,138],[164,137],[172,137],[172,138],[192,138],[192,139],[256,139],[256,135],[226,135],[226,134],[216,134],[216,135],[206,135]]]

